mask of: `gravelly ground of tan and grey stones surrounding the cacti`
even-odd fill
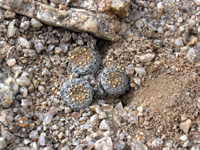
[[[1,149],[200,149],[198,0],[130,1],[128,14],[119,22],[122,38],[116,43],[96,39],[86,32],[45,25],[35,12],[31,18],[16,15],[24,9],[11,11],[15,3],[7,7],[2,2],[5,9],[0,9]],[[52,13],[57,12],[61,11]],[[110,35],[114,37],[115,32]],[[86,61],[73,54],[80,48]],[[88,65],[87,61],[93,60],[96,53],[85,53],[84,48],[97,50],[101,60],[100,64],[94,63],[99,65],[98,69],[87,75],[81,74],[79,67]],[[106,68],[120,71],[112,73],[112,69],[104,71]],[[108,76],[104,76],[105,72]],[[61,94],[63,84],[74,78],[81,78],[84,84],[89,82],[86,87],[96,93],[89,106],[77,111],[66,105]],[[117,93],[128,89],[123,86],[122,93],[113,92],[112,88],[119,83],[128,83],[131,88],[118,97]],[[76,92],[68,91],[72,95]],[[84,86],[81,91],[87,92]],[[110,97],[113,93],[117,97]]]

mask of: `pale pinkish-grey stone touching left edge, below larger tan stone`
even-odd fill
[[[4,126],[9,126],[13,121],[13,112],[11,109],[5,109],[1,112],[0,121]]]

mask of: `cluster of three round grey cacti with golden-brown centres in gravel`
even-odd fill
[[[116,68],[104,68],[98,74],[100,64],[101,57],[97,50],[79,46],[69,51],[71,72],[77,73],[80,78],[65,81],[60,95],[72,110],[87,107],[93,98],[119,96],[128,90],[129,79],[124,72]],[[94,81],[95,76],[97,82]]]

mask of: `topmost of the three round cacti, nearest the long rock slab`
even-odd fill
[[[76,47],[69,52],[71,72],[79,75],[95,74],[101,64],[101,56],[97,50],[88,47]]]

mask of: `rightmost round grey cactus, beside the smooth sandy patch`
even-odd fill
[[[101,85],[110,96],[119,96],[129,88],[129,78],[115,68],[105,68],[101,73]]]

